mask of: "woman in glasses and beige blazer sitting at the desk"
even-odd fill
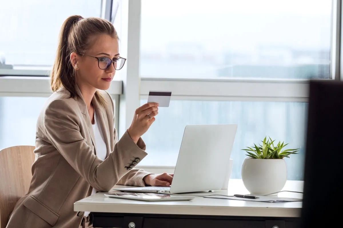
[[[125,60],[110,22],[74,15],[63,23],[51,72],[54,93],[37,121],[33,178],[8,228],[92,227],[89,212],[73,211],[75,201],[116,184],[171,184],[172,174],[132,169],[147,155],[141,136],[155,121],[158,104],[139,107],[118,140],[113,100],[104,90]]]

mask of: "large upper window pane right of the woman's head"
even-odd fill
[[[330,78],[330,0],[142,0],[141,77]]]

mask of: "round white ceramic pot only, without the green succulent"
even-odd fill
[[[287,180],[284,159],[245,158],[241,172],[244,186],[251,195],[267,195],[281,191]]]

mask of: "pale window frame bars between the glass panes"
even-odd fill
[[[101,17],[116,19],[114,7],[121,7],[121,54],[129,60],[120,70],[108,92],[116,101],[116,128],[119,137],[130,126],[140,99],[147,99],[149,90],[170,90],[171,99],[287,101],[307,102],[309,80],[295,79],[180,79],[140,77],[140,29],[142,0],[103,0]],[[332,40],[329,80],[342,80],[341,71],[341,1],[332,1]],[[44,70],[0,69],[0,96],[49,96],[49,72]],[[40,76],[40,77],[38,77]],[[327,79],[319,79],[327,80]],[[183,89],[187,88],[187,90]],[[199,90],[201,88],[201,91]],[[219,88],[219,89],[218,89]],[[268,90],[265,90],[268,88]],[[138,166],[150,172],[173,171],[171,166]]]

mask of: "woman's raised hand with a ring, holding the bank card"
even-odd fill
[[[136,109],[132,123],[127,130],[135,143],[137,143],[138,139],[150,128],[151,124],[155,121],[155,116],[157,114],[158,103],[155,102],[146,103]]]

